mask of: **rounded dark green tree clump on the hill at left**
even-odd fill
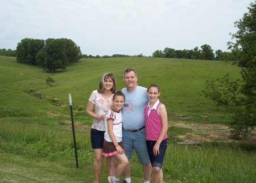
[[[56,69],[65,69],[81,58],[80,47],[71,39],[22,39],[16,47],[16,61],[29,65],[41,65],[54,73]]]

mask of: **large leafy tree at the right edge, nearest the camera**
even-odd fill
[[[229,76],[208,81],[205,96],[232,112],[229,123],[234,137],[247,135],[256,126],[256,1],[248,12],[234,23],[238,28],[228,42],[231,54],[224,54],[234,65],[241,67],[241,78],[231,82]]]

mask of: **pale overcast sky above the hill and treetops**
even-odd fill
[[[208,44],[227,50],[250,0],[1,0],[0,48],[68,38],[82,54],[152,56]]]

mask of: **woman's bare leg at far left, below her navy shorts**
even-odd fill
[[[102,171],[102,148],[94,149],[94,183],[98,183],[100,181],[100,175]]]

